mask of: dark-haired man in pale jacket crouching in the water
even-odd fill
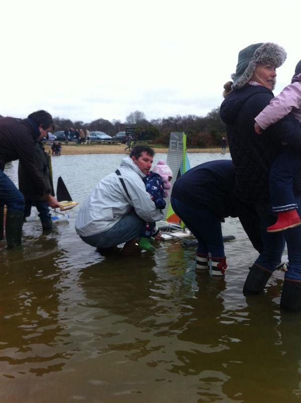
[[[136,247],[144,221],[160,221],[161,210],[142,181],[152,167],[154,150],[136,146],[115,172],[104,177],[82,205],[76,231],[84,242],[100,251],[126,242],[122,253]]]

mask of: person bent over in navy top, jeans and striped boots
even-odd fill
[[[216,160],[189,169],[172,189],[174,212],[198,240],[196,269],[208,271],[211,265],[213,276],[227,269],[220,224],[225,217],[239,217],[254,248],[263,250],[259,216],[234,195],[234,183],[232,161]]]

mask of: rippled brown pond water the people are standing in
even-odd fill
[[[82,203],[122,157],[54,157],[55,182]],[[191,166],[221,158],[189,154]],[[6,172],[16,181],[17,162]],[[282,272],[242,294],[257,252],[237,219],[222,224],[236,239],[216,279],[181,241],[101,256],[74,230],[78,209],[51,234],[25,223],[22,250],[0,242],[1,403],[299,401],[301,314],[279,310]]]

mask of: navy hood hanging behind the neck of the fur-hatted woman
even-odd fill
[[[249,84],[246,84],[240,90],[231,92],[220,105],[219,114],[221,120],[225,124],[234,124],[247,99],[260,92],[268,92],[273,95],[272,91],[266,87]]]

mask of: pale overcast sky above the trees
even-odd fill
[[[299,0],[10,0],[1,5],[0,114],[125,121],[204,116],[238,52],[287,51],[275,95],[301,59]]]

